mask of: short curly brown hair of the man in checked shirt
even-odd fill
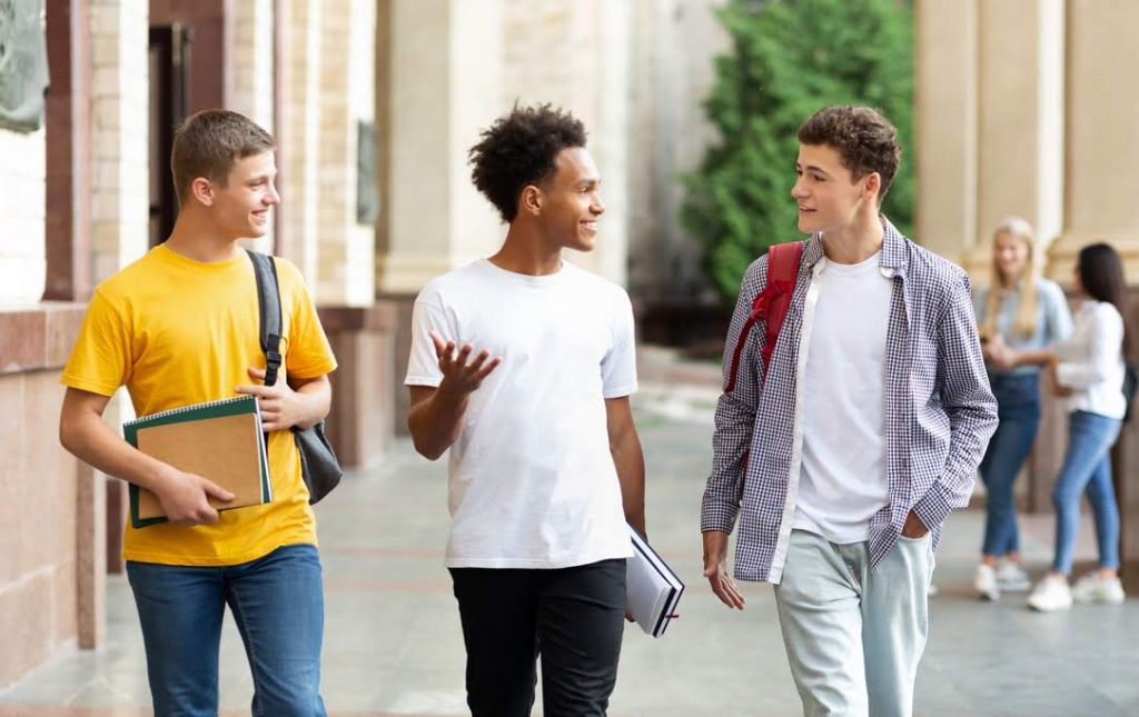
[[[798,129],[803,145],[828,145],[838,150],[843,166],[858,181],[871,172],[882,178],[878,203],[886,198],[894,181],[902,148],[898,130],[872,107],[843,105],[825,107],[811,115]]]

